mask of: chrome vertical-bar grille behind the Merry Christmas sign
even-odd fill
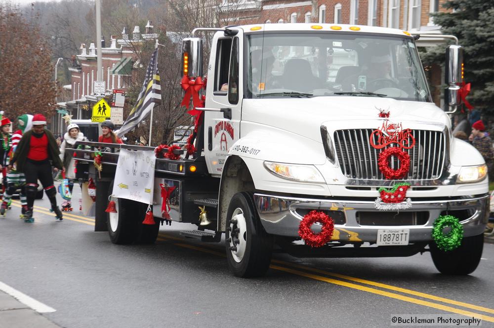
[[[373,129],[337,130],[334,145],[341,172],[351,179],[386,180],[377,166],[379,153],[369,144]],[[408,178],[403,180],[433,180],[441,176],[446,160],[447,140],[443,132],[412,130],[415,146],[404,149],[410,155]],[[399,167],[398,158],[391,157],[391,168]]]

